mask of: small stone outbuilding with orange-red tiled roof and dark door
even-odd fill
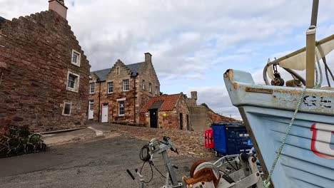
[[[183,93],[153,97],[143,106],[140,122],[154,128],[192,130],[187,100],[191,99]]]

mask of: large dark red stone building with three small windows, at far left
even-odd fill
[[[51,0],[48,11],[0,19],[0,134],[9,125],[48,131],[86,121],[91,66],[66,11]]]

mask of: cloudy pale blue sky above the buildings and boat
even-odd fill
[[[198,103],[240,117],[223,83],[228,68],[260,83],[268,58],[305,46],[311,0],[65,0],[91,71],[153,55],[163,93],[198,91]],[[47,0],[0,0],[0,16],[48,9]],[[317,39],[334,33],[334,1],[320,0]],[[332,58],[334,60],[334,58]]]

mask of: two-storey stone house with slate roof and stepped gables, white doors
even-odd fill
[[[88,120],[138,123],[148,100],[160,95],[160,83],[152,56],[125,65],[118,60],[112,68],[91,72]]]

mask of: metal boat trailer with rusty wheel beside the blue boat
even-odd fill
[[[168,150],[173,152],[178,150],[171,142],[169,137],[163,137],[163,141],[153,138],[151,142],[144,145],[141,149],[140,157],[143,164],[148,162],[151,169],[153,164],[153,156],[162,155],[166,168],[166,184],[161,188],[246,188],[246,187],[263,187],[261,172],[258,169],[256,155],[253,153],[241,153],[238,155],[226,155],[216,162],[207,162],[206,160],[198,160],[195,162],[190,171],[190,177],[183,176],[183,182],[178,182],[175,169],[178,167],[171,163],[168,157]],[[146,154],[144,153],[146,151]],[[156,167],[155,167],[156,168]],[[143,188],[146,182],[141,170],[135,169],[139,177],[137,182],[139,188]],[[156,170],[158,170],[156,168]],[[129,169],[126,170],[133,180],[133,174]],[[153,171],[152,177],[153,179]]]

